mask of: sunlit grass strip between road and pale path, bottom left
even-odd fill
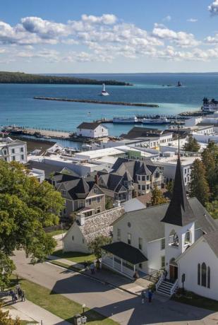
[[[56,294],[47,288],[37,285],[29,280],[19,280],[21,288],[25,290],[25,296],[28,300],[33,302],[52,314],[55,314],[61,319],[69,321],[73,324],[73,316],[75,314],[81,314],[83,308],[77,302],[64,297],[63,295]],[[16,284],[16,279],[11,280],[11,286]],[[116,325],[116,321],[105,318],[103,315],[95,312],[95,310],[85,308],[85,316],[87,317],[87,323],[90,325]]]

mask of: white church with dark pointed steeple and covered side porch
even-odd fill
[[[162,295],[184,285],[218,300],[218,223],[198,199],[187,199],[179,155],[171,202],[122,215],[103,249],[104,266],[129,278],[166,270],[156,285]]]

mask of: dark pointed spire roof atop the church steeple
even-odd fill
[[[186,188],[181,170],[181,161],[178,157],[173,195],[162,222],[183,226],[188,225],[188,223],[192,223],[195,220],[196,217],[186,196]]]

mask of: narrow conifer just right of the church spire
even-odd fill
[[[195,196],[203,206],[210,196],[210,189],[206,179],[205,166],[201,160],[195,159],[190,172],[190,196]]]

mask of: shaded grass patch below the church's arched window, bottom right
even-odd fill
[[[218,312],[217,300],[205,298],[200,295],[196,295],[195,293],[191,293],[190,291],[185,291],[184,294],[176,295],[176,297],[174,297],[174,300],[182,302],[186,305],[192,305],[195,307],[210,309],[214,312]]]

